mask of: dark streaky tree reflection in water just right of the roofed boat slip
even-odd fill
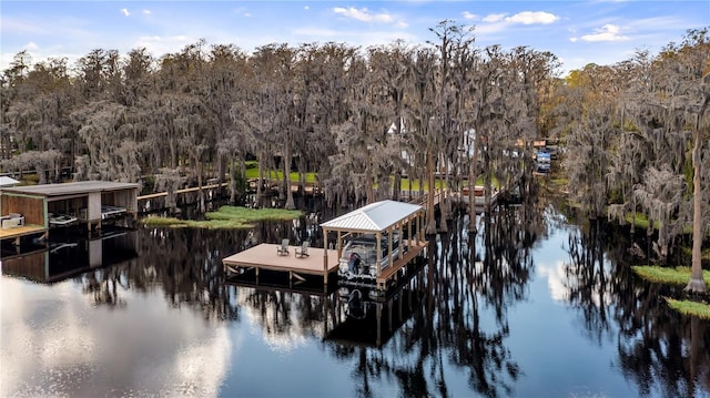
[[[359,395],[371,396],[369,385],[378,378],[397,380],[399,396],[449,396],[450,366],[468,373],[470,388],[481,396],[514,392],[521,370],[505,345],[507,310],[526,297],[530,247],[544,227],[531,214],[539,213],[500,207],[481,217],[483,236],[468,234],[463,214],[438,242],[432,237],[428,265],[417,277],[423,305],[414,307],[393,343],[384,350],[334,348],[337,356],[358,356]],[[486,318],[489,309],[494,319]]]

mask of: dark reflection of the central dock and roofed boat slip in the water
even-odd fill
[[[378,348],[419,308],[426,294],[426,263],[422,257],[410,262],[406,276],[384,294],[372,285],[336,288],[329,284],[323,289],[322,285],[307,282],[293,284],[278,273],[268,274],[258,284],[248,275],[233,275],[225,283],[233,292],[229,295],[233,299],[240,297],[241,306],[252,308],[263,330],[276,339],[306,333],[337,346]],[[308,319],[307,327],[294,326],[304,319]]]

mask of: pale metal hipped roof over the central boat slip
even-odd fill
[[[422,211],[424,211],[424,207],[419,205],[397,201],[382,201],[343,214],[321,224],[321,227],[332,231],[383,232]]]

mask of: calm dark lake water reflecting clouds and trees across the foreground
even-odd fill
[[[403,286],[356,302],[225,282],[253,244],[317,246],[307,218],[6,247],[0,396],[710,397],[710,323],[635,277],[627,242],[551,207],[478,225],[457,218]]]

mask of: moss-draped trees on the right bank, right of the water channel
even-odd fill
[[[701,245],[710,232],[710,37],[689,30],[656,57],[589,64],[558,82],[552,124],[566,137],[570,198],[590,218],[643,214],[653,251],[692,225],[688,289],[706,292]],[[632,226],[633,228],[633,226]],[[632,229],[633,231],[633,229]]]

